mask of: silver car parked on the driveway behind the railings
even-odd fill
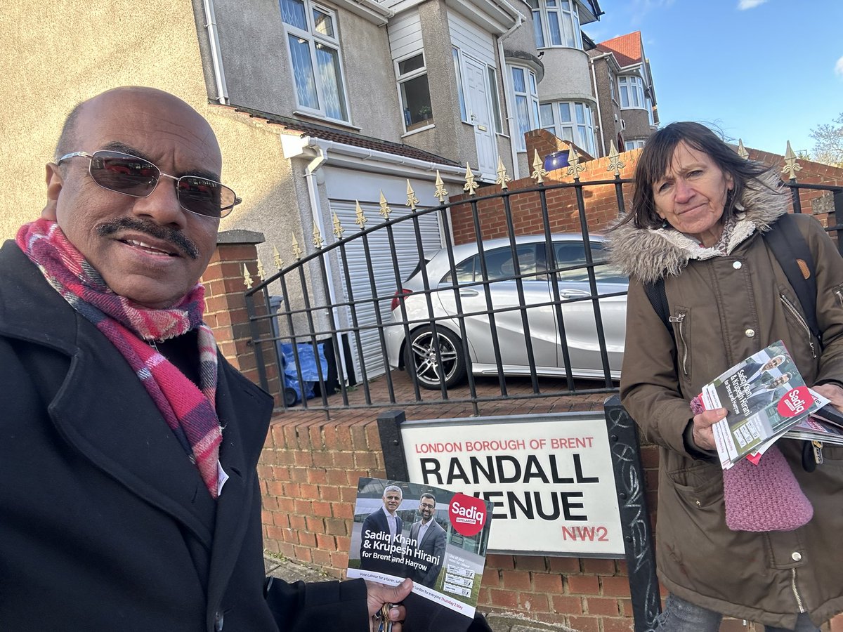
[[[618,379],[626,332],[627,279],[610,265],[600,263],[605,260],[604,238],[591,235],[589,242],[609,369],[612,378]],[[387,328],[389,365],[405,367],[409,371],[412,362],[418,383],[426,388],[440,388],[440,380],[449,388],[464,379],[468,363],[459,327],[455,276],[471,369],[475,375],[498,374],[490,311],[494,312],[502,371],[507,375],[530,374],[520,309],[524,304],[535,372],[565,376],[560,324],[551,286],[552,279],[556,278],[572,375],[604,378],[583,236],[552,235],[550,253],[544,235],[521,236],[515,243],[517,268],[508,238],[483,242],[485,276],[484,261],[481,261],[476,243],[454,246],[453,270],[447,249],[426,255],[424,270],[431,291],[425,292],[420,263],[392,301],[392,324]],[[486,302],[486,280],[491,308]],[[518,297],[519,280],[524,303]],[[617,296],[604,296],[611,294]],[[431,319],[436,323],[438,353]]]

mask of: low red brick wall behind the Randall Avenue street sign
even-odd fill
[[[264,545],[342,577],[348,565],[359,477],[385,478],[376,414],[291,411],[271,424],[258,474]],[[658,451],[643,448],[647,479],[658,480]],[[649,492],[655,502],[655,489]],[[522,613],[583,632],[631,630],[626,562],[490,554],[479,597],[482,611]]]

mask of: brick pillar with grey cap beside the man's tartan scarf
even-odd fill
[[[255,344],[249,313],[246,310],[246,285],[243,275],[245,265],[255,284],[258,277],[256,244],[264,241],[262,233],[249,230],[229,230],[217,235],[217,250],[202,275],[205,286],[205,322],[217,338],[217,345],[228,362],[260,386]],[[255,294],[255,314],[263,316],[268,309],[263,295]],[[271,324],[267,319],[256,321],[261,338],[271,337]],[[260,345],[269,392],[280,405],[281,384],[278,379],[276,354],[271,343]]]

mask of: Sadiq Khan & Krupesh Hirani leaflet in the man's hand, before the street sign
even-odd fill
[[[429,629],[466,629],[486,565],[491,509],[490,501],[432,485],[360,479],[347,575],[393,586],[410,577],[410,597],[427,600]]]

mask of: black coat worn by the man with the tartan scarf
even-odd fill
[[[362,581],[264,597],[255,466],[271,398],[220,356],[212,500],[132,369],[0,249],[0,629],[368,630]]]

